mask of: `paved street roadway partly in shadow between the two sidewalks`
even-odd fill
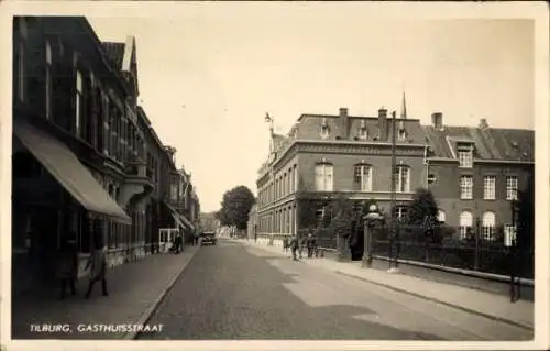
[[[202,248],[139,339],[527,340],[530,333],[258,248]]]

